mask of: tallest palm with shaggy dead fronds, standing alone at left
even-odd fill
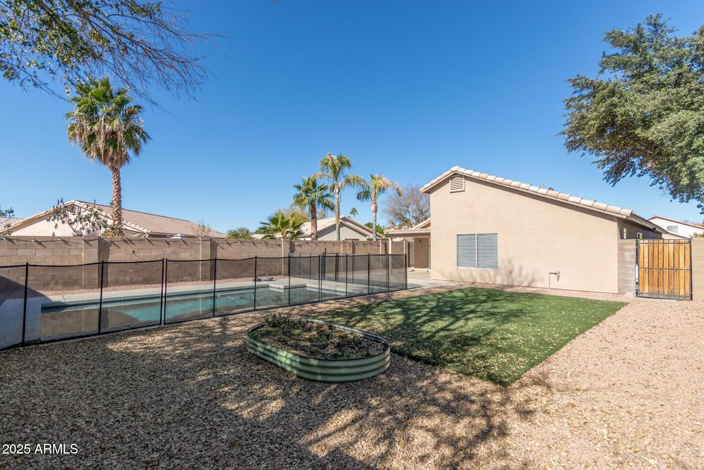
[[[138,156],[150,137],[144,131],[142,106],[132,103],[127,88],[114,89],[106,76],[76,85],[69,99],[75,109],[66,114],[68,140],[87,159],[99,161],[113,176],[113,227],[110,235],[122,236],[122,183],[120,170]]]

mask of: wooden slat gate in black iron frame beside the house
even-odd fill
[[[638,240],[639,297],[691,300],[691,240]]]

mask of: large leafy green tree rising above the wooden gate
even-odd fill
[[[704,26],[675,37],[660,15],[605,33],[596,78],[568,80],[568,151],[596,156],[615,185],[646,176],[680,202],[704,211]]]

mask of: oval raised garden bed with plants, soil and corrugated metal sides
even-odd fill
[[[391,347],[381,336],[313,319],[267,319],[247,330],[246,347],[296,376],[320,382],[373,377],[391,361]]]

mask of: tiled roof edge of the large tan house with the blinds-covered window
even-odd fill
[[[596,202],[593,199],[585,199],[584,197],[573,196],[572,194],[567,194],[566,192],[558,192],[553,190],[553,188],[546,189],[545,187],[530,185],[529,183],[521,183],[520,181],[508,180],[506,178],[500,178],[498,176],[489,175],[487,173],[468,170],[467,168],[463,168],[461,166],[453,166],[448,171],[446,171],[442,175],[439,175],[427,185],[421,187],[420,191],[430,193],[440,183],[444,182],[444,180],[451,178],[452,175],[464,175],[465,177],[470,178],[470,180],[480,180],[491,185],[496,185],[498,187],[511,187],[515,190],[537,194],[539,197],[543,197],[548,200],[556,199],[567,204],[574,204],[575,206],[591,209],[592,211],[596,211],[598,213],[609,214],[620,218],[626,218],[633,223],[642,225],[643,227],[649,228],[650,230],[653,230],[655,232],[667,233],[665,229],[660,228],[660,226],[656,225],[655,223],[652,223],[646,220],[646,218],[635,214],[634,211],[631,211],[630,209],[624,209],[623,207],[612,206],[610,204],[603,204],[603,202]]]

